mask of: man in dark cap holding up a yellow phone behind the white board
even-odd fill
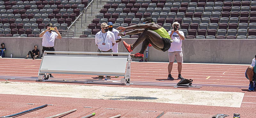
[[[42,39],[42,54],[44,54],[44,51],[55,51],[54,49],[54,41],[56,38],[61,39],[60,32],[58,31],[57,27],[53,28],[53,24],[49,23],[47,24],[47,29],[39,34],[39,37],[43,37]],[[50,53],[54,54],[54,53]],[[52,74],[50,74],[50,77],[53,77]]]

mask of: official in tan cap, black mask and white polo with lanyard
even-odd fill
[[[101,31],[95,35],[95,45],[98,46],[98,52],[113,52],[113,45],[116,43],[114,33],[108,31],[108,24],[102,23],[100,25]],[[98,77],[99,80],[103,79],[103,76]],[[107,76],[107,80],[110,80],[110,76]]]

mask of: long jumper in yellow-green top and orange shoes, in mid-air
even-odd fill
[[[132,58],[143,58],[144,54],[143,52],[148,47],[149,43],[160,51],[167,51],[169,50],[171,46],[171,40],[168,32],[160,25],[153,22],[153,19],[151,17],[146,17],[143,20],[143,24],[136,24],[129,27],[118,27],[117,30],[120,30],[118,36],[125,36],[125,35],[132,35],[132,34],[138,34],[141,33],[139,38],[135,41],[134,44],[127,44],[125,41],[124,46],[127,49],[128,52],[132,52],[132,50],[138,46],[140,43],[142,43],[140,52],[136,54],[131,54]],[[132,29],[132,31],[124,32],[125,30]]]

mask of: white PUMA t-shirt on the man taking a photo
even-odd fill
[[[172,33],[172,31],[168,31],[169,35]],[[179,31],[180,35],[184,36],[183,31]],[[171,39],[173,42],[171,43],[171,47],[169,48],[168,52],[175,52],[175,51],[181,51],[182,52],[182,39],[180,39],[180,36],[173,32]]]

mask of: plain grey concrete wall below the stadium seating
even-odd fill
[[[128,44],[135,42],[135,38],[123,38]],[[42,38],[7,38],[1,37],[0,43],[5,43],[5,57],[24,58],[29,50],[37,45],[42,53]],[[191,63],[226,63],[251,64],[255,56],[255,39],[185,39],[182,42],[184,62]],[[119,52],[127,52],[123,43],[118,44]],[[96,52],[94,38],[62,38],[55,40],[56,51]],[[140,51],[141,44],[132,52]],[[144,53],[146,54],[146,53]],[[144,56],[145,58],[145,56]],[[168,51],[161,52],[149,47],[149,61],[168,62]],[[138,61],[139,59],[132,59]]]

